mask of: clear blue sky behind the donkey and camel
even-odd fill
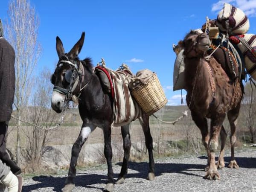
[[[215,19],[224,2],[242,9],[250,20],[248,33],[256,34],[256,0],[30,0],[40,18],[38,41],[43,48],[37,71],[54,71],[57,35],[68,52],[84,31],[81,59],[91,57],[96,65],[104,58],[113,70],[125,63],[134,73],[148,68],[157,73],[168,105],[180,105],[180,90],[172,90],[172,44],[190,29],[201,28],[207,16]],[[1,0],[3,21],[8,3]]]

